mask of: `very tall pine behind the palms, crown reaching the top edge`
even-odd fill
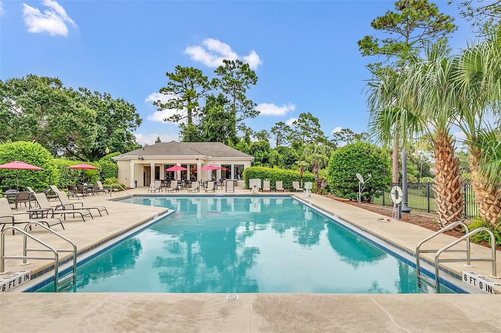
[[[441,41],[456,29],[454,19],[438,10],[428,0],[398,0],[395,10],[377,16],[371,26],[379,35],[366,35],[358,41],[363,56],[376,56],[378,62],[368,65],[375,71],[383,64],[402,68],[405,61],[425,49],[430,42]],[[395,131],[397,132],[397,131]],[[393,140],[393,182],[398,182],[399,138]]]

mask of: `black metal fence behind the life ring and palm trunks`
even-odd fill
[[[374,198],[374,203],[392,206],[390,192],[395,185],[402,187],[401,183],[392,183],[384,194]],[[470,183],[464,183],[462,188],[464,198],[464,216],[473,218],[477,216],[478,209],[475,203],[475,193]],[[408,183],[409,207],[413,210],[436,214],[435,183],[434,182],[409,182]]]

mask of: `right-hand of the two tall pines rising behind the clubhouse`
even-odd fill
[[[244,131],[243,120],[259,114],[256,103],[246,96],[247,89],[258,83],[258,76],[248,63],[228,59],[222,61],[223,64],[214,70],[217,75],[215,85],[230,101],[230,109],[236,119],[235,130]]]

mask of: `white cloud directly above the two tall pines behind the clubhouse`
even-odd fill
[[[262,63],[261,58],[255,50],[251,50],[247,55],[238,55],[231,46],[214,38],[202,40],[202,45],[192,45],[186,47],[184,53],[191,59],[201,62],[208,67],[217,67],[222,64],[223,59],[241,59],[247,62],[250,68],[256,69]]]

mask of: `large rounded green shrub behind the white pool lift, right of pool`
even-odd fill
[[[364,198],[381,196],[391,181],[389,155],[381,148],[367,143],[356,142],[336,149],[329,161],[328,184],[336,196],[356,199],[358,179],[356,173],[372,179],[365,184]],[[364,199],[363,198],[363,199]]]

